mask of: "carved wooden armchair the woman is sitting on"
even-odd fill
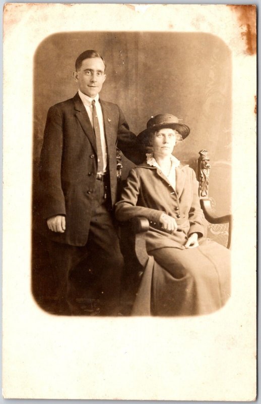
[[[209,197],[210,159],[208,151],[199,152],[198,181],[201,208],[206,218],[206,230],[209,238],[220,242],[227,248],[231,244],[232,215],[218,216],[214,211],[215,201]],[[120,162],[120,157],[119,157]],[[216,227],[219,227],[217,230]],[[138,290],[143,270],[146,267],[149,255],[146,249],[146,232],[149,230],[149,221],[144,217],[133,218],[120,224],[121,251],[125,260],[125,279],[123,279],[123,314],[130,314],[131,307]],[[215,237],[213,237],[215,235]],[[227,240],[223,240],[227,236]],[[124,307],[125,306],[125,307]]]

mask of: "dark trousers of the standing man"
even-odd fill
[[[93,216],[87,244],[74,246],[48,241],[49,256],[58,281],[58,301],[69,307],[68,314],[79,314],[75,305],[77,285],[72,280],[72,273],[79,266],[81,271],[89,271],[91,266],[94,275],[99,277],[95,297],[102,303],[100,314],[117,315],[123,258],[112,212],[108,209],[110,204],[104,198],[106,183],[96,180],[94,192]],[[89,265],[84,267],[87,257]]]

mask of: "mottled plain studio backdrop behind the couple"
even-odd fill
[[[100,96],[120,106],[130,130],[138,134],[160,113],[190,127],[174,155],[196,170],[199,151],[209,151],[210,196],[218,214],[228,213],[231,55],[219,37],[205,33],[61,32],[42,41],[34,56],[34,194],[47,111],[77,92],[75,60],[86,49],[104,57],[107,78]],[[123,178],[131,167],[123,158]]]

